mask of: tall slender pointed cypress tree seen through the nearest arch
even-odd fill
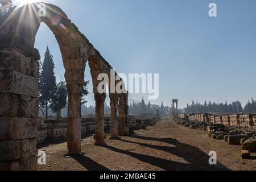
[[[54,73],[55,65],[53,63],[53,56],[47,47],[44,55],[44,61],[41,65],[39,74],[39,105],[46,107],[46,119],[48,119],[48,102],[53,98],[56,89],[56,77]]]

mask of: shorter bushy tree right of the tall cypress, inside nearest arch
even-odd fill
[[[55,92],[52,94],[49,107],[53,113],[56,114],[56,118],[60,119],[61,109],[67,105],[68,90],[64,81],[59,82],[56,86]]]

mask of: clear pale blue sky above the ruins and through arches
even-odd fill
[[[245,104],[256,98],[254,0],[44,2],[61,7],[117,72],[159,73],[159,99],[153,104],[170,105],[172,98],[180,107],[193,99]],[[216,18],[208,16],[210,2],[217,4]],[[42,59],[46,46],[57,80],[64,79],[59,47],[42,24],[35,43]],[[90,79],[88,67],[85,79]]]

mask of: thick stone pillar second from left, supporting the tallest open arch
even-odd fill
[[[82,82],[71,81],[69,72],[66,71],[65,78],[68,88],[68,154],[82,155],[81,150],[81,89]],[[72,74],[71,74],[72,75]],[[77,77],[74,77],[77,78]]]

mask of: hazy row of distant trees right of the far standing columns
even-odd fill
[[[233,101],[230,104],[227,101],[225,103],[205,101],[204,104],[192,101],[191,105],[187,104],[185,107],[185,113],[256,113],[256,101],[252,98],[245,107],[242,107],[240,101]]]

